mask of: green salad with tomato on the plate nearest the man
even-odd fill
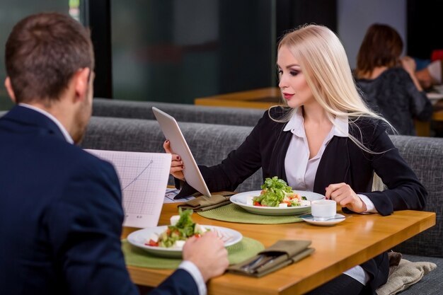
[[[192,209],[183,211],[179,208],[178,214],[180,214],[180,219],[178,219],[176,224],[171,224],[166,231],[163,231],[163,233],[159,235],[154,234],[154,236],[151,236],[145,245],[163,248],[181,248],[188,238],[192,236],[200,237],[203,233],[209,231],[209,229],[205,229],[192,221]]]

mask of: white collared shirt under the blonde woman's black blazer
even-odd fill
[[[328,135],[326,135],[318,154],[311,159],[309,159],[308,140],[304,132],[304,117],[301,114],[300,108],[294,113],[289,122],[287,122],[283,131],[292,132],[292,138],[287,149],[286,157],[284,158],[284,172],[286,173],[288,185],[294,188],[294,190],[308,190],[312,192],[318,164],[330,139],[335,136],[349,136],[347,117],[335,117],[334,125]],[[376,213],[374,203],[372,203],[367,196],[361,194],[358,194],[358,196],[367,206],[367,212],[365,213]],[[364,285],[369,281],[369,274],[359,265],[343,273]]]

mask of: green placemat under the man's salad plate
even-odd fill
[[[262,243],[243,236],[239,243],[226,247],[228,250],[229,265],[233,265],[253,257],[265,249]],[[137,248],[126,239],[122,240],[122,250],[125,254],[126,265],[149,268],[176,269],[182,260],[180,258],[161,258],[151,255],[141,248]]]

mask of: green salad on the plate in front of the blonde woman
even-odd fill
[[[301,200],[306,199],[297,192],[293,192],[292,187],[277,176],[266,178],[261,189],[260,195],[253,197],[254,206],[299,207],[301,206]]]

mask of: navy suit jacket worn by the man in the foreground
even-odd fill
[[[45,115],[0,118],[1,294],[137,294],[121,251],[113,166],[69,144]],[[197,294],[176,270],[152,294]]]

